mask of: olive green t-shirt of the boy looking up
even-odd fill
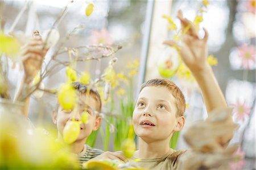
[[[170,149],[167,154],[152,159],[141,159],[141,161],[131,163],[135,167],[147,168],[150,170],[176,170],[177,158],[183,154],[185,150],[175,151]],[[138,159],[137,157],[134,157]]]

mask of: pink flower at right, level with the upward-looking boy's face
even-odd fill
[[[240,103],[240,101],[238,100],[233,106],[233,113],[236,116],[236,119],[238,121],[241,120],[242,122],[245,121],[245,117],[248,117],[250,114],[251,107],[246,106],[245,101],[243,103]]]

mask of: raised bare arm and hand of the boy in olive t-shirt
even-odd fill
[[[213,74],[212,68],[207,63],[207,30],[204,28],[204,38],[200,39],[195,27],[193,26],[193,23],[188,19],[183,18],[181,11],[178,12],[177,17],[180,19],[182,31],[187,30],[189,27],[187,32],[183,32],[184,36],[182,39],[182,44],[180,45],[180,55],[199,84],[205,106],[207,108],[208,116],[210,114],[216,113],[213,112],[213,110],[227,109],[228,105],[225,101],[225,97],[221,92],[220,86],[218,85],[218,82]],[[177,45],[171,40],[165,41],[164,44]],[[229,114],[229,118],[225,123],[227,123],[226,125],[233,124],[231,114]],[[232,139],[232,137],[233,134],[228,135],[225,140],[223,139],[223,141],[220,142],[222,146],[227,146],[229,140]]]

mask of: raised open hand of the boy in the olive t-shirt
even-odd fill
[[[193,23],[183,18],[181,10],[178,11],[177,18],[181,22],[181,30],[183,31],[182,43],[180,45],[180,56],[187,67],[193,72],[204,71],[208,67],[208,32],[204,28],[204,38],[200,39],[198,32]],[[184,32],[186,31],[186,32]],[[166,40],[163,44],[176,45],[173,40]]]

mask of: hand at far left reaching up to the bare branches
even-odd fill
[[[21,49],[21,58],[23,61],[26,80],[31,82],[39,69],[42,67],[44,56],[48,49],[43,49],[43,41],[39,36],[31,38]]]

